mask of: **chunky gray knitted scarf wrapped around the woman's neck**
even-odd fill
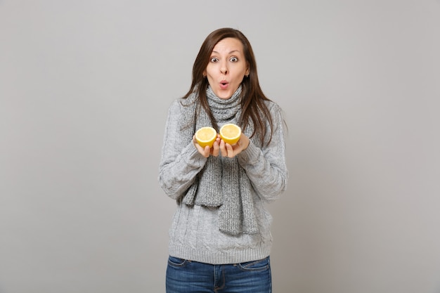
[[[226,123],[237,123],[241,115],[241,86],[228,100],[215,96],[210,87],[207,89],[209,108],[219,127]],[[196,129],[212,126],[203,108],[197,103],[197,94],[183,102],[181,125],[182,135],[192,140]],[[250,136],[253,126],[243,131]],[[256,139],[252,138],[256,143]],[[245,170],[238,164],[237,157],[209,156],[205,167],[196,176],[193,185],[183,197],[183,203],[205,207],[219,207],[219,230],[231,235],[240,233],[258,233],[257,219],[254,214],[254,202],[250,189],[252,185]]]

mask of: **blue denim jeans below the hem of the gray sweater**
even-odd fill
[[[271,293],[270,259],[212,265],[169,256],[167,293]]]

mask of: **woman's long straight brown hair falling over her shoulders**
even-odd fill
[[[255,61],[254,51],[252,51],[252,46],[250,42],[247,40],[242,32],[239,30],[235,30],[232,28],[221,28],[219,30],[214,30],[211,34],[207,36],[205,41],[203,41],[202,46],[200,47],[200,51],[198,56],[195,58],[195,62],[193,65],[193,82],[191,83],[190,90],[186,93],[183,98],[188,98],[191,93],[194,91],[198,91],[198,100],[202,108],[207,112],[209,119],[211,119],[211,123],[218,130],[218,125],[214,119],[214,115],[212,115],[211,110],[209,109],[209,105],[207,102],[206,90],[209,85],[207,79],[203,76],[203,73],[206,70],[206,67],[209,63],[209,58],[211,56],[212,50],[214,46],[226,38],[234,38],[241,41],[243,46],[243,51],[245,54],[245,59],[247,62],[247,66],[249,68],[249,76],[245,77],[242,81],[242,98],[241,98],[241,108],[242,114],[238,119],[238,124],[242,127],[242,129],[246,129],[249,126],[250,120],[252,120],[252,124],[254,126],[254,131],[251,135],[254,136],[257,134],[257,137],[261,139],[261,144],[264,143],[265,138],[264,134],[266,134],[266,122],[268,122],[271,129],[271,136],[269,137],[267,143],[270,143],[272,138],[272,117],[271,112],[268,110],[265,100],[269,100],[266,96],[264,96],[263,91],[259,85],[258,75],[257,75],[257,62]]]

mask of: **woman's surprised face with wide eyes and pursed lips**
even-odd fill
[[[235,38],[219,41],[212,49],[205,74],[216,96],[231,98],[249,74],[241,41]]]

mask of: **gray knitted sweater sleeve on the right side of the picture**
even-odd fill
[[[252,187],[266,202],[276,200],[285,191],[288,177],[282,112],[276,103],[271,103],[269,107],[273,119],[271,143],[259,148],[250,141],[246,150],[238,154],[238,162],[245,169]]]

